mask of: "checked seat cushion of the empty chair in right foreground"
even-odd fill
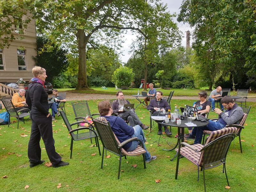
[[[198,150],[201,150],[203,148],[203,145],[194,144],[193,147],[197,148]],[[178,152],[178,148],[176,148],[175,150]],[[180,154],[198,166],[201,152],[195,152],[194,150],[192,150],[188,147],[182,147],[182,148],[180,148]]]

